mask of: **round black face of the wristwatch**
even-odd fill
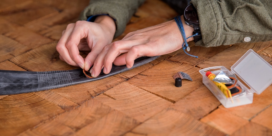
[[[184,17],[189,24],[199,24],[198,16],[195,7],[190,4],[184,10]]]

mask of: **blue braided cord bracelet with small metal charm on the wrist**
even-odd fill
[[[184,40],[184,42],[183,42],[183,44],[182,44],[183,51],[184,51],[187,55],[189,55],[189,56],[198,58],[198,56],[191,55],[191,54],[189,54],[189,53],[187,53],[187,52],[185,51],[185,49],[187,49],[187,51],[190,51],[190,47],[189,47],[189,45],[188,45],[188,43],[187,43],[187,39],[190,38],[190,37],[193,37],[193,36],[198,35],[198,33],[196,33],[196,34],[194,34],[194,35],[192,35],[192,36],[186,38],[185,31],[184,31],[184,28],[183,28],[183,24],[182,24],[182,21],[181,21],[179,15],[175,17],[175,21],[176,21],[176,24],[178,25],[178,27],[179,27],[179,29],[180,29],[180,32],[181,32],[182,37],[183,37],[183,40]]]

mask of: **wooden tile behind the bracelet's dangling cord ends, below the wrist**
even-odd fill
[[[229,46],[218,46],[218,47],[209,47],[209,48],[199,47],[199,46],[189,46],[189,47],[190,47],[190,51],[189,52],[186,51],[186,52],[191,55],[198,56],[198,58],[191,57],[187,55],[186,53],[184,53],[183,49],[180,49],[179,52],[175,56],[170,57],[169,59],[173,61],[183,62],[192,66],[196,66],[197,64],[225,50]]]

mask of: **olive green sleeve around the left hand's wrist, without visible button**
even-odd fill
[[[115,19],[115,36],[125,31],[126,24],[145,0],[90,0],[89,5],[81,12],[79,20],[89,16],[108,14]]]

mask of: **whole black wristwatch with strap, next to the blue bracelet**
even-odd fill
[[[193,6],[193,4],[189,4],[185,8],[183,17],[184,17],[185,23],[194,28],[193,34],[198,33],[198,35],[194,36],[194,42],[197,42],[200,39],[202,39],[196,8]]]

